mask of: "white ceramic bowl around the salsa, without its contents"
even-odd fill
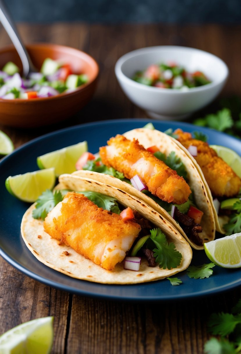
[[[167,62],[176,62],[188,72],[199,70],[212,82],[180,91],[146,86],[131,79],[136,71]],[[115,65],[117,80],[130,101],[157,119],[183,119],[206,106],[222,90],[228,72],[227,65],[213,54],[181,46],[137,49],[120,57]]]

